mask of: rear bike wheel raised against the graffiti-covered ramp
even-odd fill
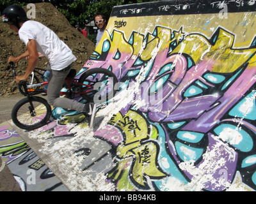
[[[79,84],[88,84],[92,87],[86,87],[85,85],[79,85],[81,96],[86,101],[94,101],[94,103],[108,103],[109,99],[115,96],[117,90],[115,90],[115,84],[118,82],[115,74],[112,71],[104,68],[88,69],[79,78]],[[100,83],[100,84],[96,84]],[[96,87],[96,88],[95,88]]]

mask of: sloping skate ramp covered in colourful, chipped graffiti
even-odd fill
[[[255,191],[255,7],[115,6],[81,69],[120,82],[93,128],[73,112],[35,131],[10,123],[70,191]]]

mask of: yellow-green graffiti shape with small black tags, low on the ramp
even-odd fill
[[[136,124],[132,118],[138,123],[143,124],[143,129],[140,129],[140,132],[138,132],[136,135],[129,134],[131,128],[133,129],[134,124]],[[145,129],[145,127],[148,126],[148,124],[145,122],[145,119],[141,117],[141,115],[138,115],[138,113],[132,112],[131,110],[127,112],[125,117],[122,117],[120,113],[113,115],[109,123],[122,129],[126,139],[124,142],[120,143],[116,149],[116,155],[119,159],[118,166],[112,171],[112,173],[109,174],[109,176],[117,178],[117,176],[120,177],[120,175],[122,175],[123,179],[125,179],[126,176],[129,176],[131,177],[134,185],[148,189],[147,184],[143,182],[143,180],[145,180],[145,175],[160,178],[165,177],[166,174],[157,168],[157,155],[159,149],[158,144],[151,140],[148,142],[143,142],[143,140],[148,139],[148,135],[152,135],[152,133],[148,133],[150,129]],[[131,124],[130,127],[129,124]],[[154,137],[153,135],[152,137]],[[128,171],[130,166],[128,163],[130,163],[131,157],[133,158],[132,171],[136,170],[136,175],[133,173],[126,175],[124,172],[122,173],[122,171],[120,171],[120,168],[123,169],[124,166],[126,166],[125,169]]]

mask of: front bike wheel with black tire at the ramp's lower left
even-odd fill
[[[30,101],[35,107],[31,108]],[[36,115],[32,115],[31,111],[34,111]],[[38,96],[31,96],[30,99],[21,99],[12,110],[13,123],[26,130],[34,130],[45,126],[51,117],[51,106],[44,98]]]

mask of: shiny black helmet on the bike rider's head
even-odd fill
[[[4,9],[3,22],[10,22],[19,28],[19,22],[28,20],[26,11],[19,5],[12,4]]]

